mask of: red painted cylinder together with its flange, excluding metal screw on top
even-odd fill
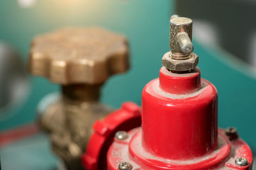
[[[115,140],[108,150],[108,169],[129,162],[133,169],[252,169],[252,151],[240,138],[218,130],[218,94],[209,81],[193,73],[160,69],[142,93],[141,128]],[[245,157],[248,166],[235,164]]]

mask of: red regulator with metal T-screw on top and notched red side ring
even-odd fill
[[[86,169],[252,169],[252,151],[236,129],[218,128],[218,93],[196,67],[192,23],[170,18],[170,52],[163,56],[159,78],[144,87],[141,109],[125,103],[93,125],[82,157]],[[141,127],[116,132],[106,148],[121,112],[141,113]],[[128,121],[122,125],[131,126]]]

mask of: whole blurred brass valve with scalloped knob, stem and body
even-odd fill
[[[39,123],[67,169],[83,169],[81,155],[92,125],[112,111],[98,102],[100,87],[111,74],[126,71],[128,60],[125,37],[95,27],[65,28],[33,39],[29,71],[61,84],[62,96],[40,113]]]

